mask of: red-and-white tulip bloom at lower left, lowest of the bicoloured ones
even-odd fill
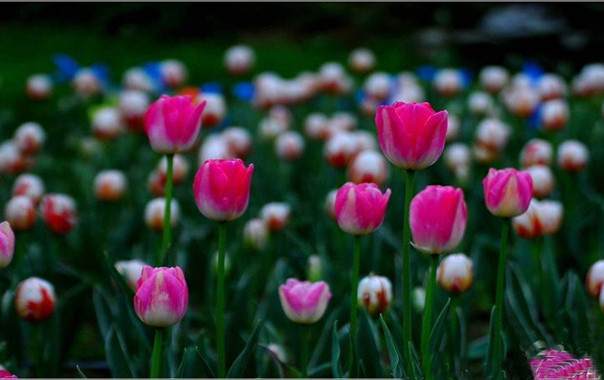
[[[50,318],[55,310],[55,290],[50,282],[38,277],[22,281],[15,291],[17,314],[28,322]]]

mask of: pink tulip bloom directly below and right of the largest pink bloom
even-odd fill
[[[449,253],[461,242],[468,217],[461,189],[428,186],[411,200],[409,213],[413,245],[418,250]]]

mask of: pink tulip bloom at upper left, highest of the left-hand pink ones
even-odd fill
[[[162,95],[145,113],[145,131],[154,151],[172,154],[189,150],[199,135],[205,103],[190,96]]]

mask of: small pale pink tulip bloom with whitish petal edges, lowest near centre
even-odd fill
[[[290,278],[279,286],[281,307],[292,322],[315,323],[325,313],[331,298],[329,285],[325,282],[299,281]]]

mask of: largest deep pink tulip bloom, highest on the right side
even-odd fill
[[[428,103],[380,106],[375,123],[382,152],[399,168],[425,169],[445,148],[447,112],[434,112]]]

